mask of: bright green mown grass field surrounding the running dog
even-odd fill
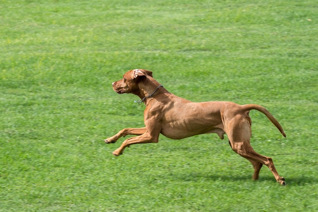
[[[316,1],[0,1],[0,211],[318,211]],[[257,152],[216,134],[111,153],[144,105],[111,82],[148,69],[192,101],[251,111]]]

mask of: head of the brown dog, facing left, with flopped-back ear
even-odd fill
[[[138,83],[145,80],[147,76],[152,77],[152,72],[144,69],[134,69],[126,72],[121,80],[113,82],[113,90],[117,94],[136,93],[139,90]]]

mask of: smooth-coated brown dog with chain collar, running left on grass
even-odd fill
[[[152,78],[152,72],[135,69],[126,72],[121,80],[112,83],[118,94],[131,93],[140,97],[139,103],[146,105],[144,128],[126,128],[116,135],[105,139],[106,143],[115,143],[120,137],[138,135],[126,139],[113,155],[119,156],[125,147],[137,143],[157,143],[159,134],[171,139],[182,139],[198,134],[216,133],[221,139],[228,135],[229,143],[235,153],[250,161],[254,168],[253,179],[259,178],[259,172],[266,165],[277,182],[285,185],[285,179],[277,173],[273,161],[253,150],[251,137],[252,109],[264,113],[286,137],[282,127],[274,116],[264,107],[256,104],[238,105],[233,102],[191,102],[177,97]]]

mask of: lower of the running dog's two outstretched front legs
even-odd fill
[[[132,144],[137,144],[137,143],[157,143],[158,142],[158,138],[159,138],[159,134],[155,135],[155,136],[151,136],[148,132],[146,132],[146,133],[144,133],[144,134],[142,134],[140,136],[128,138],[124,142],[122,142],[121,146],[119,148],[117,148],[113,152],[113,155],[114,156],[122,155],[123,150],[126,147],[129,147]]]

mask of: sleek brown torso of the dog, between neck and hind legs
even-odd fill
[[[149,118],[160,122],[161,134],[171,139],[205,133],[216,133],[223,139],[225,126],[222,114],[226,113],[229,116],[229,111],[234,114],[233,110],[228,108],[239,106],[233,102],[191,102],[163,91],[147,100],[144,118],[145,122],[149,122]],[[246,118],[248,122],[248,113]]]

